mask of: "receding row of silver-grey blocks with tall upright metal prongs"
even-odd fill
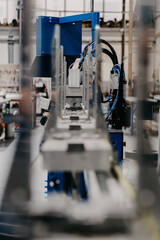
[[[79,87],[79,77],[75,79],[76,83],[71,83],[73,79],[70,78],[73,76],[71,77],[70,74],[75,70],[74,68],[70,69],[69,84],[67,84],[66,63],[63,62],[63,49],[61,48],[61,52],[58,51],[60,49],[59,30],[56,31],[56,129],[42,146],[44,166],[49,171],[104,170],[108,172],[109,157],[113,155],[113,151],[109,140],[105,134],[101,133],[102,129],[99,130],[100,119],[97,111],[98,84],[101,81],[100,29],[96,28],[96,77],[93,74],[93,54],[90,50],[84,59],[82,85]],[[79,69],[77,72],[80,75]],[[94,99],[91,108],[90,99]]]

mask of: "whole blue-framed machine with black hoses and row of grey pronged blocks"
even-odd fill
[[[92,42],[82,51],[82,22],[86,20],[91,20]],[[98,24],[99,13],[37,19],[37,57],[32,72],[39,74],[36,77],[52,77],[54,96],[46,108],[50,116],[41,147],[48,170],[47,193],[76,190],[86,198],[84,171],[110,172],[115,155],[111,142],[118,150],[115,159],[122,164],[125,74],[114,48],[100,39]],[[101,90],[102,54],[113,63],[107,98]],[[47,74],[44,58],[51,67]]]

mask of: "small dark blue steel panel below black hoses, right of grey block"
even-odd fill
[[[123,132],[109,132],[113,148],[118,152],[117,164],[121,167],[123,160]]]

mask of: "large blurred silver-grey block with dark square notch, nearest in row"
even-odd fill
[[[112,147],[104,135],[91,132],[57,132],[43,147],[44,167],[49,171],[110,170]]]

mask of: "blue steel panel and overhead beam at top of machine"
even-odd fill
[[[95,40],[95,26],[99,25],[99,13],[85,13],[67,17],[44,17],[37,19],[37,56],[51,54],[51,43],[55,24],[61,26],[61,45],[64,55],[79,56],[82,46],[82,22],[91,20],[92,40]]]

